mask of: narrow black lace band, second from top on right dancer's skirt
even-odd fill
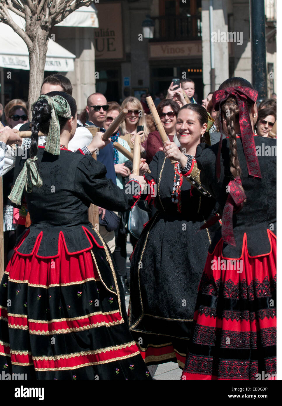
[[[260,309],[256,312],[248,310],[223,310],[218,312],[217,309],[199,306],[198,312],[200,315],[204,314],[206,317],[217,317],[219,319],[225,320],[236,320],[237,322],[246,320],[253,322],[254,320],[263,320],[265,317],[269,320],[270,318],[276,317],[276,309]]]

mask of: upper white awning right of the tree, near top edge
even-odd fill
[[[94,4],[88,7],[80,7],[69,14],[63,21],[56,24],[56,27],[92,27],[98,28],[97,10]]]

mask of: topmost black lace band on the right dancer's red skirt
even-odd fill
[[[265,276],[262,282],[255,279],[247,285],[246,279],[237,284],[231,279],[222,283],[220,279],[215,281],[212,275],[207,276],[206,273],[203,273],[199,286],[199,291],[203,294],[217,297],[223,294],[224,298],[249,300],[271,296],[274,289],[276,289],[276,275],[271,281],[268,276]]]

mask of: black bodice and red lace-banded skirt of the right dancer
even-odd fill
[[[219,230],[209,247],[182,379],[276,378],[276,139],[254,136],[254,142],[262,178],[248,175],[238,137],[246,203],[233,214],[236,246],[224,243]],[[196,160],[222,211],[231,180],[229,139],[222,142],[219,182],[217,152],[218,144],[200,145]]]

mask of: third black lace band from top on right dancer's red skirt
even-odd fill
[[[276,345],[276,327],[263,328],[256,331],[229,331],[221,328],[200,326],[196,324],[193,343],[220,348],[247,350]]]

